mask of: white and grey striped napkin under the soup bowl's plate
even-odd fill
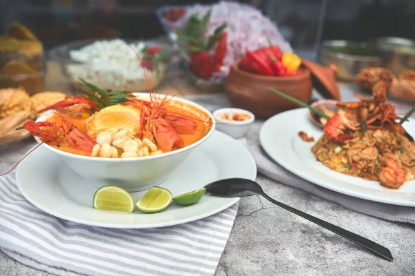
[[[165,228],[84,226],[26,201],[13,171],[0,177],[0,249],[55,275],[214,275],[237,210]]]

